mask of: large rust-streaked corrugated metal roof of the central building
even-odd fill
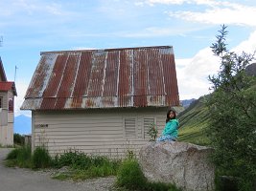
[[[179,105],[173,47],[43,52],[23,110]]]

